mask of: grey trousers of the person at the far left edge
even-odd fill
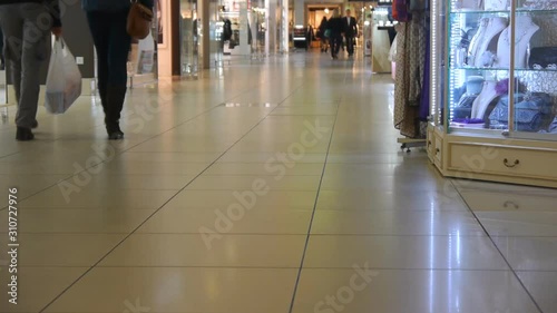
[[[37,118],[40,91],[39,69],[47,59],[52,18],[40,3],[0,6],[6,62],[16,89],[16,125],[31,128]]]

